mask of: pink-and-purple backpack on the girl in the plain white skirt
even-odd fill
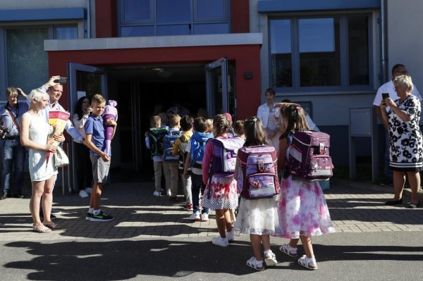
[[[243,198],[279,194],[277,160],[274,146],[247,146],[238,150],[238,192]]]

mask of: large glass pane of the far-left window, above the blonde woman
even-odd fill
[[[20,87],[27,94],[49,77],[44,39],[47,28],[6,30],[8,87]]]

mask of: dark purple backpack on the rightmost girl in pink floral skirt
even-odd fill
[[[333,175],[330,136],[314,130],[296,131],[288,154],[289,173],[303,180],[328,180]]]

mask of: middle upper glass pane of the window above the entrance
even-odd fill
[[[157,23],[190,23],[190,0],[157,0]]]

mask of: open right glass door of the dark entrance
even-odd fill
[[[209,116],[219,113],[235,114],[235,96],[231,77],[228,76],[228,59],[208,63],[206,69],[207,110]]]

